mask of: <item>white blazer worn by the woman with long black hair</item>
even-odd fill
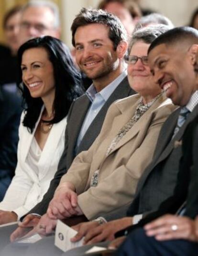
[[[52,126],[38,162],[38,174],[27,164],[26,158],[42,111],[32,134],[22,125],[24,112],[22,113],[15,176],[0,202],[0,210],[16,212],[18,219],[43,199],[64,150],[66,117]]]

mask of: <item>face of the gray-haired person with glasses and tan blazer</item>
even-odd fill
[[[147,56],[149,45],[143,41],[136,42],[131,49],[130,55]],[[151,100],[160,93],[161,89],[154,83],[148,65],[143,65],[140,59],[135,64],[128,65],[129,84],[136,92]]]

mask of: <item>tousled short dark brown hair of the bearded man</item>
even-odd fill
[[[94,23],[103,24],[109,28],[109,38],[113,43],[114,50],[116,50],[121,41],[127,41],[126,30],[116,16],[103,10],[82,8],[71,26],[73,46],[75,46],[74,37],[77,28]]]

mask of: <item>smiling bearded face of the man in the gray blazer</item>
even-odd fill
[[[119,58],[125,53],[121,44],[113,49],[108,34],[109,29],[105,25],[95,23],[78,27],[75,33],[77,65],[93,82],[106,80],[105,85],[120,75]]]

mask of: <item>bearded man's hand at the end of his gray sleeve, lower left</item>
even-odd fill
[[[11,242],[21,238],[24,235],[31,235],[36,232],[35,227],[39,222],[40,217],[33,214],[28,214],[22,223],[19,223],[19,227],[11,234]]]

